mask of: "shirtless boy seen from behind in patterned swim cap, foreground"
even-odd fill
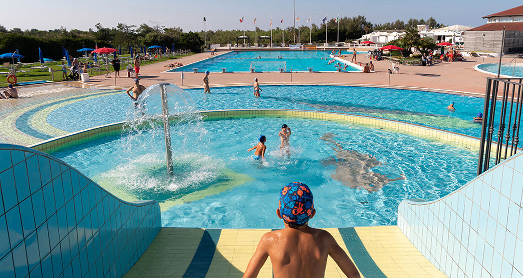
[[[278,217],[285,228],[266,233],[247,265],[243,277],[256,277],[267,257],[274,277],[324,277],[331,256],[347,277],[360,277],[358,269],[334,237],[323,229],[309,227],[314,217],[311,189],[303,183],[290,183],[280,192]]]

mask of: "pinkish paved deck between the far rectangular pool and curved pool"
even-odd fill
[[[164,67],[170,63],[180,62],[184,65],[209,58],[209,53],[199,53],[179,59],[164,61],[156,64],[142,66],[140,69],[140,80],[144,86],[150,86],[158,82],[169,82],[182,86],[180,72],[163,72]],[[367,63],[370,60],[358,55],[358,61]],[[359,63],[358,62],[358,63]],[[493,75],[484,74],[474,70],[474,65],[481,63],[498,63],[499,58],[467,58],[463,62],[442,62],[429,67],[400,66],[400,74],[388,74],[390,63],[387,61],[372,61],[375,64],[376,73],[363,74],[360,72],[263,72],[263,73],[226,73],[211,74],[209,81],[211,87],[216,84],[231,83],[253,83],[254,78],[264,83],[351,83],[351,84],[377,84],[402,87],[419,87],[427,89],[444,89],[463,92],[485,93],[486,77]],[[503,58],[503,63],[510,62],[509,58]],[[123,76],[123,72],[122,72]],[[184,86],[201,86],[203,73],[186,72],[184,74]],[[95,85],[115,86],[115,78],[104,76],[92,77],[88,83]],[[116,86],[127,88],[132,86],[133,78],[118,78]]]

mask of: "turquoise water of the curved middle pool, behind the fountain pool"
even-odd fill
[[[212,75],[211,77],[212,78]],[[287,108],[370,115],[436,127],[479,137],[481,125],[472,122],[483,111],[483,99],[412,90],[343,86],[261,86],[184,90],[200,111],[242,108]],[[455,102],[456,111],[447,110]],[[126,119],[132,103],[125,92],[74,102],[49,114],[48,122],[66,131],[78,131]],[[499,111],[496,110],[496,111]]]

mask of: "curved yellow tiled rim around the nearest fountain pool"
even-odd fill
[[[372,128],[380,128],[393,132],[439,140],[445,143],[456,144],[464,148],[479,149],[480,140],[475,137],[458,134],[456,132],[431,128],[396,120],[383,119],[372,116],[354,115],[339,112],[322,112],[309,110],[286,110],[286,109],[243,109],[243,110],[212,110],[200,112],[203,120],[222,120],[232,118],[256,118],[256,117],[290,117],[328,120],[342,124],[357,124]],[[94,128],[73,132],[61,137],[51,138],[31,144],[29,147],[43,152],[53,152],[78,143],[93,140],[106,135],[118,134],[122,131],[125,122],[112,123]],[[493,150],[497,149],[497,143],[492,142]]]

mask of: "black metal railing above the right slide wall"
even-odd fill
[[[523,78],[487,78],[477,175],[517,152],[522,104]]]

